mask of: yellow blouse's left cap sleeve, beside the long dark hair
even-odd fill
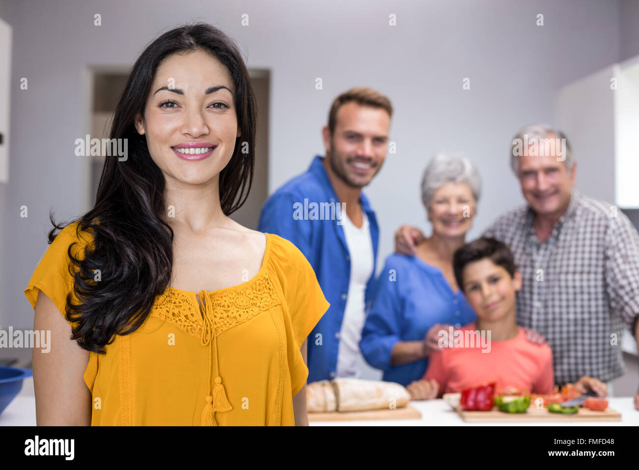
[[[71,253],[76,258],[82,259],[83,248],[89,242],[88,234],[84,232],[81,237],[78,237],[76,228],[77,223],[72,223],[58,233],[40,259],[33,276],[29,279],[29,285],[24,290],[24,295],[34,309],[38,292],[42,290],[56,304],[69,325],[73,325],[73,322],[67,320],[65,315],[66,296],[73,291],[73,277],[69,271],[72,263],[68,256],[68,249],[75,242]]]

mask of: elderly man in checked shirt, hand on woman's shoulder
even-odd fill
[[[523,277],[518,323],[546,337],[558,384],[602,389],[602,380],[610,388],[624,373],[624,328],[639,340],[639,235],[615,206],[574,188],[577,164],[559,130],[522,129],[512,141],[511,166],[528,204],[499,217],[484,236],[514,253]],[[401,227],[397,251],[412,253],[422,237]]]

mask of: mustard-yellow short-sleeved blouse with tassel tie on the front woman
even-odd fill
[[[78,242],[82,258],[91,241],[76,226],[38,263],[24,291],[33,308],[38,290],[63,317],[66,295],[77,302],[67,250]],[[300,348],[329,305],[302,252],[267,233],[254,278],[199,294],[168,286],[139,329],[89,353],[91,425],[295,425],[293,396],[309,373]]]

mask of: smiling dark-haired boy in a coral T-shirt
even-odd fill
[[[477,313],[477,322],[456,331],[454,340],[443,335],[441,349],[431,356],[422,380],[408,386],[413,400],[435,398],[486,382],[497,382],[497,391],[515,387],[530,393],[553,393],[550,346],[526,341],[523,329],[516,324],[515,295],[521,288],[521,275],[510,249],[495,239],[474,240],[456,251],[453,269],[466,300]],[[477,331],[475,336],[470,334]],[[464,344],[473,337],[482,341]],[[603,382],[591,377],[582,377],[576,387],[606,395]]]

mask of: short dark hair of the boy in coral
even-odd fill
[[[511,278],[514,277],[517,268],[509,247],[499,240],[482,237],[481,239],[466,243],[452,256],[452,267],[455,272],[455,279],[462,292],[464,290],[464,283],[461,273],[464,268],[469,263],[483,260],[484,258],[488,258],[491,262],[507,270]]]

